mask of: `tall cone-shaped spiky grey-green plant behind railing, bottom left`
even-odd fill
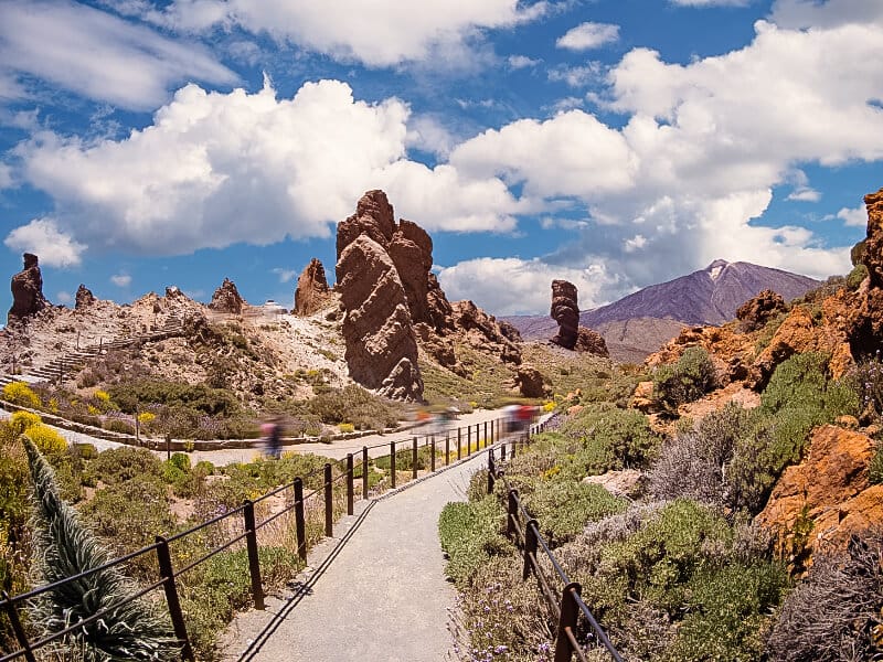
[[[43,579],[54,584],[105,565],[108,553],[61,499],[52,467],[26,435],[22,440],[33,481],[35,558]],[[168,619],[151,605],[139,598],[115,607],[136,590],[116,567],[103,568],[43,594],[33,604],[33,621],[51,634],[107,609],[61,640],[62,656],[72,652],[84,662],[180,659]]]

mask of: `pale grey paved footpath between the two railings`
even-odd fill
[[[438,515],[465,501],[478,453],[344,517],[334,537],[310,552],[294,594],[268,599],[265,611],[240,615],[224,660],[241,662],[409,661],[447,659],[448,608]]]

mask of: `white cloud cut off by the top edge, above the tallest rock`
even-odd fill
[[[533,21],[547,9],[546,2],[519,0],[175,0],[147,18],[196,32],[238,25],[340,61],[382,67],[429,60],[434,53],[457,58],[481,30]]]

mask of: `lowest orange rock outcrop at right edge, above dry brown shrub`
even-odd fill
[[[874,440],[826,425],[812,433],[809,451],[783,473],[757,522],[794,553],[796,524],[811,522],[810,552],[843,547],[852,533],[883,523],[883,485],[872,485],[868,466]]]

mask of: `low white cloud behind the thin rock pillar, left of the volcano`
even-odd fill
[[[448,299],[471,299],[497,316],[547,312],[555,279],[570,280],[576,286],[581,310],[607,302],[602,292],[609,291],[618,280],[602,265],[560,267],[517,257],[480,257],[438,271],[438,281]]]

